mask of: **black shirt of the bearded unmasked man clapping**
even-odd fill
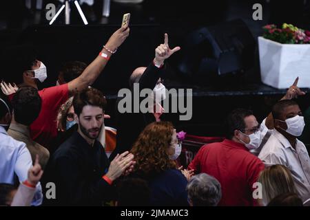
[[[46,182],[56,185],[56,199],[45,199],[47,205],[101,206],[112,199],[113,186],[102,179],[110,166],[103,146],[97,140],[90,146],[75,132],[56,150],[47,170]]]

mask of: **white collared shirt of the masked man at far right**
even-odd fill
[[[273,129],[258,157],[265,166],[282,164],[289,168],[301,199],[305,201],[310,198],[310,158],[300,140],[296,139],[294,149],[284,135]]]

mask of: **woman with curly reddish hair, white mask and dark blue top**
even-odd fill
[[[153,122],[145,127],[131,153],[134,174],[147,180],[152,206],[188,206],[187,179],[174,159],[180,155],[180,141],[171,122]]]

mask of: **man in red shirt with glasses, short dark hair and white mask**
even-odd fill
[[[226,129],[227,139],[200,148],[188,169],[218,179],[218,206],[254,206],[253,184],[265,166],[249,149],[260,144],[260,126],[251,111],[236,109],[228,115]]]

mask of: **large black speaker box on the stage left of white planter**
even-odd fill
[[[188,34],[178,70],[185,78],[209,83],[246,72],[254,66],[256,41],[240,19]]]

